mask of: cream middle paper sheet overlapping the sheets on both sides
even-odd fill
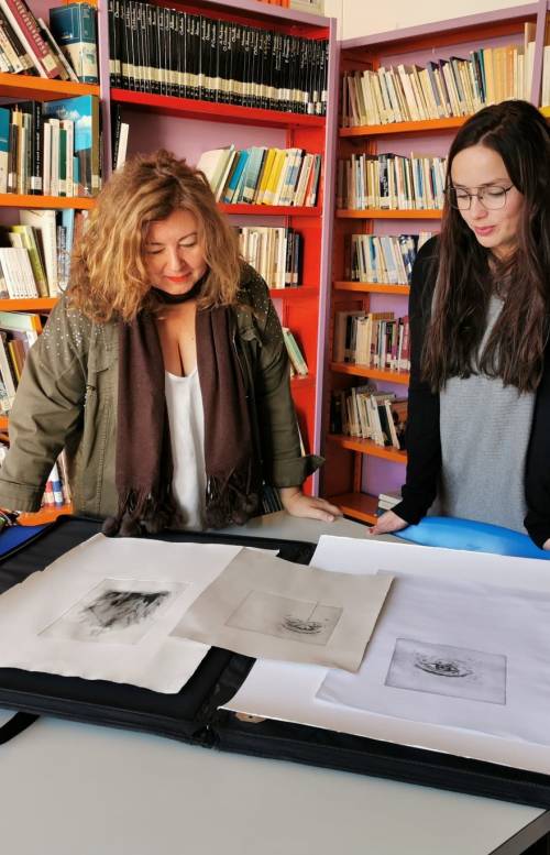
[[[356,670],[391,583],[391,574],[330,573],[242,549],[173,635]]]

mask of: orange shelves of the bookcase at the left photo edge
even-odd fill
[[[30,7],[36,17],[47,21],[48,10],[55,0],[30,0]],[[41,101],[74,98],[78,96],[100,96],[99,85],[74,83],[72,80],[48,79],[25,74],[0,73],[0,103],[9,106],[13,101]],[[0,194],[0,222],[11,223],[16,210],[90,210],[94,199],[89,197],[59,197],[45,195]],[[54,297],[0,299],[0,311],[47,313],[56,303]],[[9,417],[0,416],[0,431],[9,434]],[[38,525],[53,522],[61,514],[72,513],[70,505],[44,506],[35,514],[22,514],[21,525]]]

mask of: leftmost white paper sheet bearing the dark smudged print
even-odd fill
[[[209,648],[169,633],[239,551],[96,535],[0,596],[0,667],[177,692]]]

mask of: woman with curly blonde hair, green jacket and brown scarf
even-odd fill
[[[110,535],[243,524],[263,481],[296,516],[300,453],[280,325],[202,173],[138,156],[98,197],[25,369],[0,504],[35,511],[66,449],[75,511]]]

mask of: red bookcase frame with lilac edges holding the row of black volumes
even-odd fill
[[[309,6],[309,4],[308,4]],[[322,366],[327,318],[326,285],[330,277],[330,223],[332,219],[332,160],[337,129],[336,79],[338,47],[336,21],[289,8],[258,3],[257,0],[198,0],[178,4],[178,10],[217,19],[222,22],[271,30],[306,40],[328,40],[328,85],[326,116],[261,109],[240,103],[212,103],[207,100],[177,98],[133,91],[110,86],[108,4],[98,9],[100,36],[100,85],[105,132],[105,163],[111,164],[111,106],[120,108],[121,120],[130,127],[128,156],[136,152],[166,147],[190,163],[201,153],[233,144],[235,149],[253,145],[279,149],[300,147],[321,154],[320,193],[315,207],[220,204],[235,226],[273,226],[293,228],[302,237],[302,272],[298,287],[272,288],[270,294],[283,326],[290,328],[308,364],[309,374],[292,380],[298,421],[308,452],[319,453],[321,445]],[[305,485],[318,492],[314,475]]]

